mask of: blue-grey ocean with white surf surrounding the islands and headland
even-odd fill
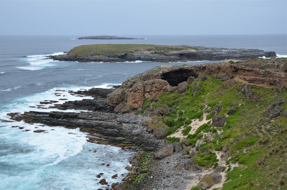
[[[127,77],[158,65],[183,64],[144,61],[78,63],[45,59],[46,55],[62,54],[83,44],[137,43],[255,48],[275,51],[278,57],[287,57],[286,34],[119,36],[144,40],[76,40],[78,37],[83,36],[0,36],[2,120],[10,120],[7,113],[11,112],[56,110],[49,109],[49,106],[43,107],[47,109],[30,107],[40,101],[57,100],[59,104],[83,99],[72,96],[68,90],[110,88],[111,85],[121,84]],[[217,61],[191,61],[184,64],[213,62]],[[56,92],[60,92],[60,96],[55,96]],[[59,100],[63,97],[68,100]],[[36,129],[46,130],[47,133],[34,133]],[[109,184],[120,182],[128,173],[125,167],[130,166],[129,158],[134,152],[89,143],[86,141],[87,135],[79,129],[48,127],[37,123],[31,125],[23,121],[0,121],[0,189],[104,189],[106,186],[98,183],[102,178]],[[96,177],[99,173],[104,173],[100,179]],[[112,179],[111,176],[115,174],[119,177]]]

